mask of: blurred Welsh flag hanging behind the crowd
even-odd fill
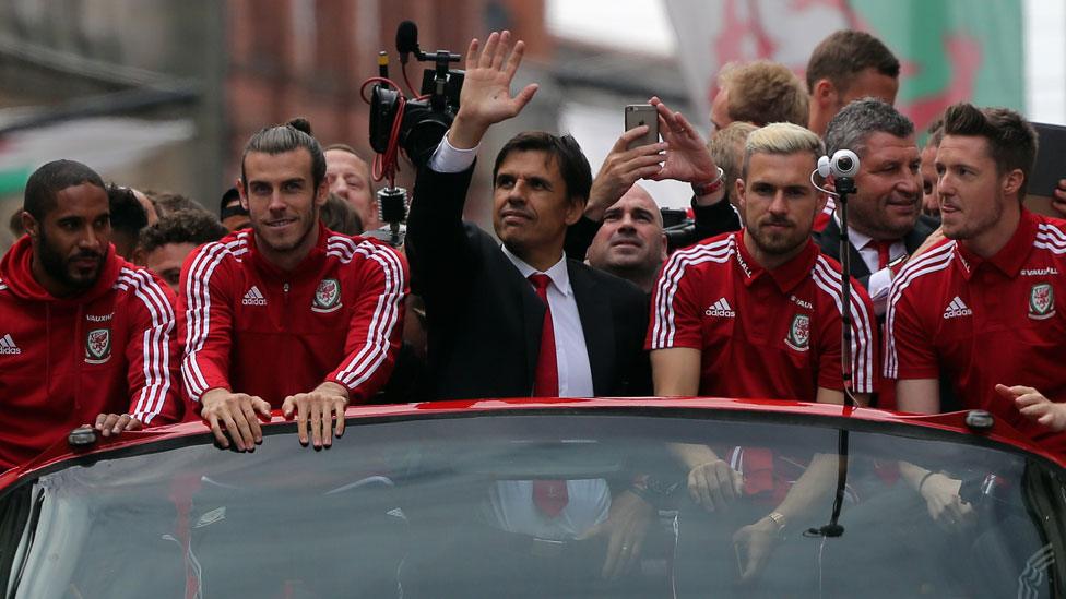
[[[924,131],[948,106],[1024,110],[1021,0],[665,0],[692,101],[710,110],[731,61],[775,60],[801,79],[838,29],[869,32],[902,64],[896,106]]]

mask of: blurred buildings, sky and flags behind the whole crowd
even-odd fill
[[[923,131],[959,100],[1066,123],[1066,3],[1061,0],[4,0],[0,2],[0,223],[34,169],[67,157],[105,179],[177,192],[215,212],[239,152],[268,123],[307,117],[323,145],[372,156],[362,83],[379,50],[400,79],[395,28],[422,49],[465,53],[510,28],[526,41],[519,84],[541,91],[494,128],[569,131],[599,168],[623,107],[658,95],[704,135],[721,68],[769,58],[803,76],[839,28],[883,39],[903,62],[897,106]],[[422,64],[407,67],[421,80]],[[487,189],[488,164],[476,183]],[[400,183],[412,183],[413,169]],[[666,205],[687,185],[651,183]],[[470,194],[467,217],[488,220]],[[11,232],[0,228],[0,247]]]

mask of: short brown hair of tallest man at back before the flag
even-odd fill
[[[821,40],[807,61],[807,91],[815,93],[815,84],[828,79],[837,92],[848,93],[855,76],[866,69],[892,79],[899,77],[899,59],[866,32],[839,31]]]

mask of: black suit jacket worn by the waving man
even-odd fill
[[[463,223],[472,173],[421,169],[407,216],[412,290],[426,302],[433,396],[528,397],[545,308],[496,239]],[[647,296],[575,260],[567,268],[595,395],[649,393]]]

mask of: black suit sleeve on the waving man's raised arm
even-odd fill
[[[454,173],[418,169],[405,244],[411,289],[427,300],[465,288],[461,284],[472,274],[475,253],[463,226],[463,204],[473,173],[473,166]]]

